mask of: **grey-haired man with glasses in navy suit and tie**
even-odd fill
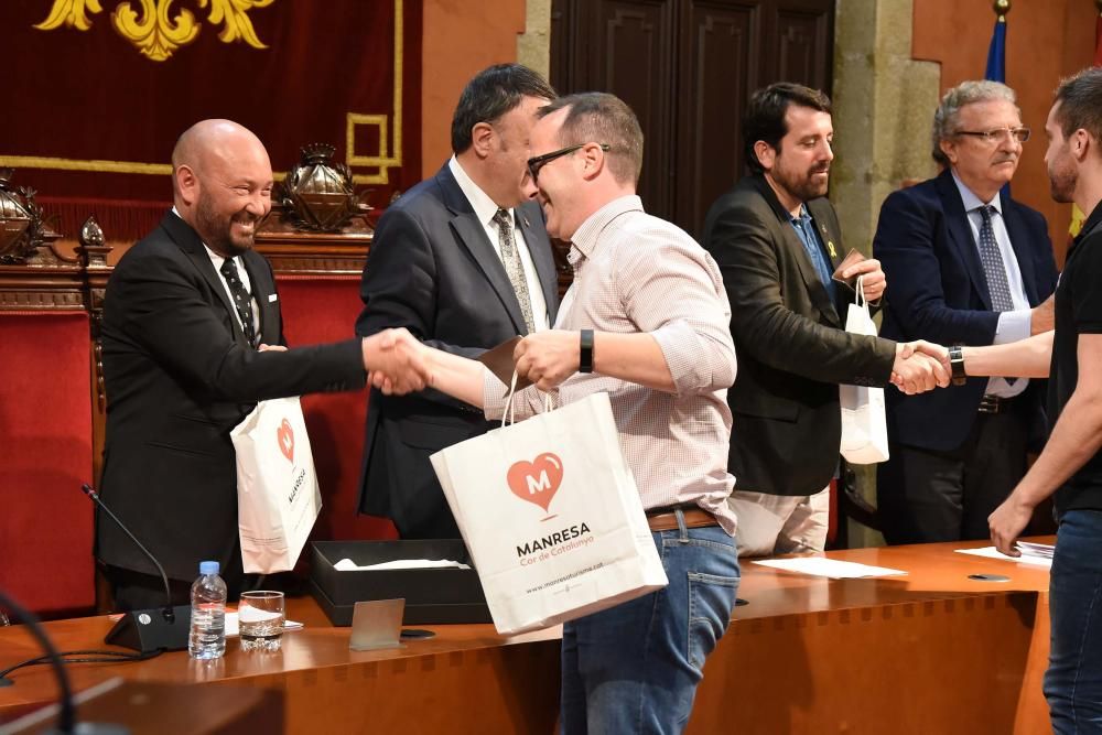
[[[944,171],[880,208],[873,252],[892,277],[884,336],[991,345],[1052,328],[1048,227],[1004,190],[1028,138],[1003,84],[964,82],[942,97],[933,158]],[[876,486],[889,543],[987,537],[987,516],[1025,474],[1030,428],[1041,423],[1035,382],[972,378],[888,397],[892,457]]]

